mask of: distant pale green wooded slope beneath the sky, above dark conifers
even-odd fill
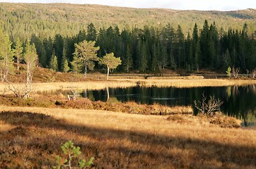
[[[173,27],[181,25],[183,32],[191,32],[194,23],[202,27],[204,20],[223,27],[223,30],[242,29],[248,23],[251,34],[256,30],[256,10],[243,11],[178,11],[160,8],[121,8],[100,5],[78,4],[10,4],[0,3],[0,20],[4,30],[11,37],[30,36],[32,33],[42,37],[75,35],[86,30],[89,23],[96,28],[118,25],[124,27]]]

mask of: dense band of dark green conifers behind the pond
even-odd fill
[[[226,70],[241,68],[252,70],[256,65],[256,40],[248,35],[248,25],[241,30],[229,29],[228,32],[217,30],[216,24],[205,20],[199,30],[194,24],[192,35],[185,35],[180,25],[170,24],[162,29],[145,26],[120,30],[119,27],[96,30],[93,23],[86,30],[71,37],[55,35],[52,39],[32,35],[30,42],[35,44],[39,63],[44,68],[57,71],[76,72],[72,62],[76,60],[75,44],[92,41],[99,46],[98,58],[114,53],[122,60],[117,69],[120,72],[161,72],[165,68],[183,68],[188,71],[210,68]],[[20,42],[13,41],[13,46]],[[18,44],[21,45],[21,44]],[[96,68],[100,64],[96,63]],[[84,70],[82,70],[84,71]]]

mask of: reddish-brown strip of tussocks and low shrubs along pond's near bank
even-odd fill
[[[30,106],[30,107],[44,107],[44,108],[77,108],[77,109],[91,109],[102,111],[115,111],[131,114],[143,115],[169,115],[169,114],[192,114],[191,106],[163,106],[161,104],[137,104],[134,101],[128,102],[104,102],[91,101],[89,99],[76,99],[68,101],[65,96],[48,97],[39,96],[33,99],[18,99],[13,96],[0,96],[2,105],[6,106]]]

